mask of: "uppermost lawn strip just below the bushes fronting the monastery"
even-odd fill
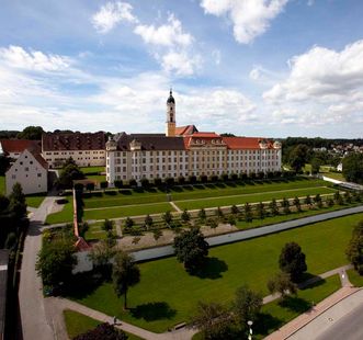
[[[170,195],[172,201],[182,201],[182,200],[193,200],[193,199],[205,199],[205,197],[219,197],[219,196],[229,196],[229,195],[242,195],[242,194],[253,194],[253,193],[262,193],[270,191],[284,191],[284,190],[293,190],[293,189],[302,189],[302,188],[316,188],[316,186],[326,186],[327,182],[321,180],[307,180],[300,179],[293,182],[286,183],[265,183],[265,182],[254,182],[253,184],[245,184],[245,185],[235,185],[224,188],[219,188],[217,185],[213,185],[214,189],[209,189],[207,185],[186,185],[183,189],[181,186],[175,186],[172,189]],[[329,185],[329,184],[328,184]],[[202,189],[203,188],[203,189]],[[178,191],[181,192],[178,192]],[[116,195],[106,195],[103,194],[102,197],[93,196],[93,197],[84,197],[84,208],[92,207],[102,207],[102,206],[120,206],[127,204],[137,204],[137,203],[157,203],[157,202],[166,202],[167,194],[160,191],[156,191],[156,193],[144,192],[138,193],[133,190],[125,191],[129,194],[125,195],[122,193],[117,193]]]

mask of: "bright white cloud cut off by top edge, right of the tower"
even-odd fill
[[[238,43],[249,44],[263,34],[270,22],[284,9],[288,0],[201,0],[204,12],[227,15],[234,25]]]

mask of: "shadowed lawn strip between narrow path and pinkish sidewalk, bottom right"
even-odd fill
[[[307,311],[313,306],[313,303],[319,303],[340,287],[339,276],[333,275],[305,290],[299,290],[296,296],[290,296],[283,303],[274,301],[262,306],[260,319],[253,325],[253,338],[263,339],[266,335]]]

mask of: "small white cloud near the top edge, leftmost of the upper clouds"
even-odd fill
[[[133,7],[127,2],[107,2],[92,16],[92,23],[100,33],[107,33],[120,22],[137,23],[132,13]]]

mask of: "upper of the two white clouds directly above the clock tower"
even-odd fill
[[[168,18],[168,24],[156,27],[155,25],[137,25],[134,30],[145,43],[161,46],[190,46],[193,36],[183,32],[181,22],[173,14]]]

